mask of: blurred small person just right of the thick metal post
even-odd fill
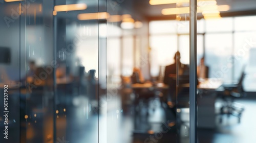
[[[197,66],[197,76],[199,79],[207,79],[209,67],[204,64],[204,57],[201,58],[200,64]]]

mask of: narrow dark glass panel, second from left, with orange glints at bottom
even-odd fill
[[[24,64],[26,122],[24,142],[46,142],[54,140],[54,89],[55,68],[53,46],[53,2],[24,2],[26,4],[26,35]]]

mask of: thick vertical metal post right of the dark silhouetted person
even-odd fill
[[[189,142],[197,142],[197,0],[190,0]]]

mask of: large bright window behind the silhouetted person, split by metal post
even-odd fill
[[[197,63],[205,56],[209,78],[238,80],[243,68],[252,70],[250,53],[256,47],[256,16],[202,19],[197,23]],[[177,50],[181,52],[181,62],[189,64],[188,26],[187,21],[150,22],[152,76],[158,76],[162,66],[174,62]]]

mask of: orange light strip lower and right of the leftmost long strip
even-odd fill
[[[81,13],[77,15],[79,20],[108,19],[110,14],[107,12]]]

